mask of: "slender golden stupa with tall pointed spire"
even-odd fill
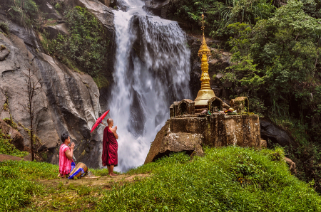
[[[208,105],[208,100],[215,97],[214,91],[210,89],[210,75],[208,75],[208,59],[210,57],[210,49],[208,48],[205,36],[204,36],[204,14],[203,18],[203,41],[200,50],[198,51],[198,56],[201,58],[201,69],[202,75],[200,76],[200,81],[202,82],[200,90],[198,91],[198,96],[195,99],[195,106],[198,108],[206,108]]]

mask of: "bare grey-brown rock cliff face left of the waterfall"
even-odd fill
[[[98,4],[94,1],[75,2],[88,6],[103,25],[113,31],[113,16],[106,18],[112,14],[108,7],[94,8],[93,5]],[[33,28],[21,27],[3,14],[0,14],[0,21],[9,23],[9,35],[0,33],[0,118],[12,117],[16,124],[20,123],[18,130],[24,137],[24,145],[29,146],[26,129],[30,127],[30,119],[23,112],[23,106],[28,105],[25,74],[30,68],[34,80],[40,83],[39,93],[34,97],[34,127],[41,140],[39,151],[48,149],[47,161],[57,164],[59,137],[68,131],[76,144],[76,159],[90,167],[98,167],[101,164],[103,128],[98,127],[90,134],[91,127],[101,115],[100,93],[93,79],[69,70],[58,60],[42,53]]]

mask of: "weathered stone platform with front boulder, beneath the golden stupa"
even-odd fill
[[[171,117],[156,135],[145,163],[170,154],[186,151],[203,154],[202,146],[260,148],[258,115],[178,115]]]

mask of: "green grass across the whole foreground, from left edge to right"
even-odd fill
[[[140,166],[128,174],[151,173],[151,177],[104,191],[63,184],[46,188],[34,179],[55,179],[58,166],[3,162],[0,211],[39,211],[41,201],[35,199],[43,196],[50,202],[45,211],[321,211],[320,196],[290,175],[282,149],[226,147],[205,153],[193,160],[173,154]],[[62,202],[65,197],[68,201]]]

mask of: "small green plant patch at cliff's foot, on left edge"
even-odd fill
[[[16,157],[25,157],[29,152],[21,152],[19,149],[11,144],[11,139],[9,135],[2,133],[0,129],[0,154],[9,154]]]

